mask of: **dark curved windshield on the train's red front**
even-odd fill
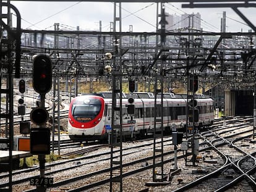
[[[88,102],[76,103],[72,107],[72,115],[79,122],[90,122],[100,113],[101,102],[98,99],[90,99]]]

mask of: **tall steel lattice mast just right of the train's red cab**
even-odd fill
[[[114,2],[113,32],[122,31],[121,1]],[[117,24],[119,28],[117,29]],[[122,38],[113,36],[113,72],[112,72],[112,109],[111,109],[111,159],[110,159],[110,186],[109,191],[116,191],[119,183],[119,191],[122,191]],[[117,135],[119,142],[117,142]],[[114,169],[119,174],[114,174]]]

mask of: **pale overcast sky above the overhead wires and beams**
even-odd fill
[[[114,4],[111,2],[35,2],[11,1],[19,9],[22,17],[22,28],[33,30],[54,30],[54,23],[60,23],[61,30],[98,30],[99,21],[102,31],[109,31],[109,23],[113,22]],[[226,10],[227,31],[247,32],[250,28],[232,9],[182,9],[181,4],[165,3],[166,12],[181,15],[184,13],[201,14],[201,25],[205,31],[220,31],[220,20]],[[255,8],[241,8],[244,15],[255,22]],[[122,31],[129,31],[132,25],[134,32],[155,31],[156,3],[122,3]]]

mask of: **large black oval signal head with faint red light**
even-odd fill
[[[44,54],[40,54],[33,61],[33,88],[37,93],[45,94],[51,90],[51,84],[51,59]]]

